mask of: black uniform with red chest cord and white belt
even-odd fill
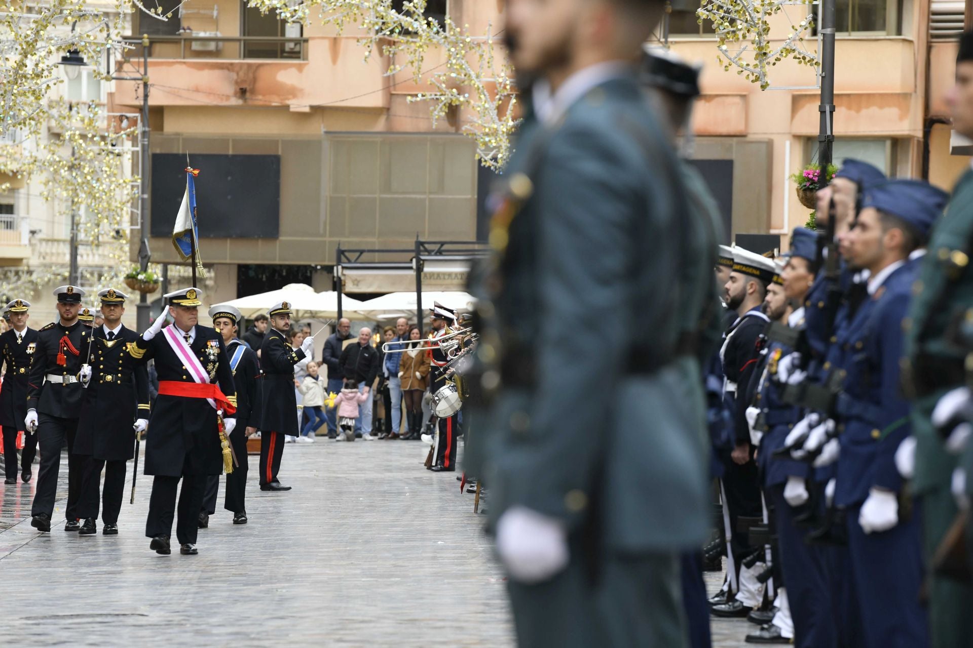
[[[37,441],[41,470],[31,515],[54,513],[60,451],[67,444],[67,506],[64,518],[78,519],[78,498],[85,470],[83,457],[75,455],[74,440],[85,389],[78,374],[88,359],[91,327],[79,321],[70,326],[48,324],[37,331],[37,346],[27,384],[27,409],[37,410]],[[58,364],[58,358],[63,364]],[[26,416],[26,415],[24,415]]]

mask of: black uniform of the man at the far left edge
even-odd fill
[[[27,375],[36,348],[37,331],[33,328],[24,328],[20,336],[13,328],[0,335],[3,350],[0,364],[7,365],[0,388],[0,426],[3,426],[4,467],[8,479],[17,478],[17,433],[24,428],[23,420],[27,417]],[[37,435],[24,434],[20,469],[27,479],[36,451]]]

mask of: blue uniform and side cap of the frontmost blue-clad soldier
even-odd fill
[[[868,188],[863,208],[896,216],[924,237],[945,203],[946,194],[937,188],[895,180]],[[872,500],[902,495],[894,455],[912,427],[910,405],[900,389],[900,358],[914,268],[902,259],[871,277],[869,297],[848,325],[847,402],[835,504],[847,508],[852,575],[869,648],[921,648],[929,641],[918,597],[923,575],[919,521],[900,507],[898,524],[873,530],[862,513]]]

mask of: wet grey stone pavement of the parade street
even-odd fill
[[[0,485],[2,643],[513,646],[473,496],[424,456],[411,442],[288,444],[280,478],[294,490],[282,494],[260,492],[251,457],[249,524],[231,524],[221,484],[198,556],[149,550],[151,477],[138,476],[134,505],[126,488],[117,536],[100,521],[97,535],[62,530],[66,457],[50,534],[30,527],[35,482]],[[742,646],[751,628],[714,620],[714,646]]]

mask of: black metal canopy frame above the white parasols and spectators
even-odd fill
[[[403,256],[412,255],[408,261],[363,261],[366,255]],[[338,319],[342,319],[342,291],[344,269],[356,270],[412,270],[415,273],[415,322],[422,330],[422,269],[427,260],[436,261],[473,261],[490,255],[489,246],[483,241],[422,241],[415,239],[415,246],[409,249],[345,249],[338,244],[335,253],[335,290],[338,291]]]

